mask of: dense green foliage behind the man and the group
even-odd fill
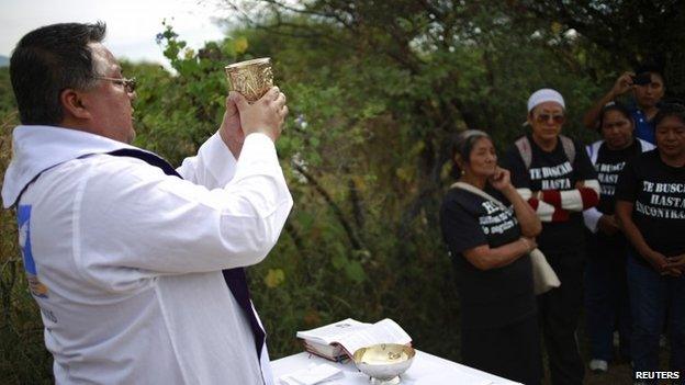
[[[417,348],[458,360],[456,283],[438,226],[450,137],[482,128],[503,149],[524,132],[528,94],[553,87],[566,97],[565,129],[587,140],[582,113],[636,57],[524,1],[289,4],[226,2],[245,11],[243,27],[196,52],[162,26],[175,73],[125,64],[141,84],[136,145],[175,163],[192,155],[223,114],[223,67],[271,57],[289,98],[278,149],[295,201],[278,246],[249,269],[272,358],[301,349],[296,330],[390,317]],[[9,89],[0,69],[2,171],[16,124]],[[0,377],[37,383],[49,378],[49,356],[13,213],[0,215]]]

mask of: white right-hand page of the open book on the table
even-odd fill
[[[340,336],[336,342],[340,343],[351,356],[360,348],[378,343],[407,344],[412,342],[412,338],[397,322],[385,318],[370,327]]]

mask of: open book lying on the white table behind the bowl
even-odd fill
[[[351,358],[355,351],[377,343],[409,344],[412,338],[394,320],[364,324],[347,318],[316,329],[297,331],[304,349],[332,361]]]

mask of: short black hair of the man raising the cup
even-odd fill
[[[102,22],[52,24],[19,41],[10,79],[22,124],[57,125],[64,120],[59,94],[94,86],[98,73],[88,44],[102,42],[105,32]]]

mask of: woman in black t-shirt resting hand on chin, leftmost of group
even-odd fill
[[[528,253],[541,229],[535,211],[497,167],[487,134],[462,133],[452,148],[460,182],[440,210],[461,299],[464,364],[539,384],[541,362]],[[483,191],[497,196],[492,201]],[[504,206],[510,203],[513,207]]]

